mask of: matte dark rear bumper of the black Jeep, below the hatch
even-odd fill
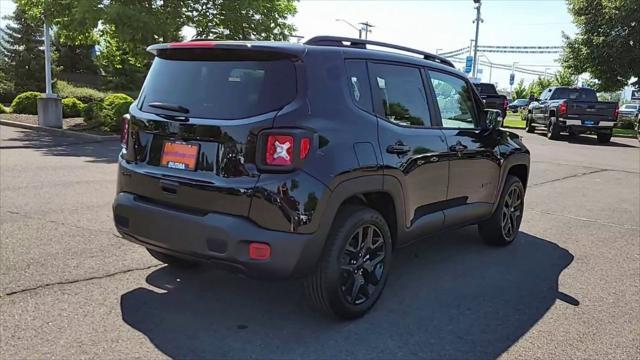
[[[129,241],[254,278],[304,276],[322,249],[316,234],[267,230],[240,216],[187,213],[125,192],[116,195],[113,215],[118,232]],[[250,242],[269,244],[271,258],[249,259]]]

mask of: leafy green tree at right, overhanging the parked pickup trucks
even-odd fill
[[[597,90],[619,90],[635,78],[640,85],[640,1],[567,0],[578,33],[564,34],[563,66],[589,73]]]

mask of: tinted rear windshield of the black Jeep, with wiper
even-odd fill
[[[279,110],[296,96],[293,63],[195,61],[156,58],[142,93],[142,111],[212,119],[241,119]],[[160,102],[182,106],[188,114],[149,106]]]

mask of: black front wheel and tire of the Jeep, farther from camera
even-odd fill
[[[519,194],[518,198],[514,197],[514,192]],[[516,239],[524,213],[524,194],[524,187],[520,179],[508,175],[493,215],[488,220],[478,224],[480,237],[487,244],[506,246]],[[507,212],[506,214],[505,211]],[[505,215],[509,224],[505,224]],[[510,230],[508,231],[506,228]]]

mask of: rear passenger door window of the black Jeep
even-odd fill
[[[398,125],[430,126],[431,118],[420,70],[407,66],[370,64],[372,86],[380,114]]]

